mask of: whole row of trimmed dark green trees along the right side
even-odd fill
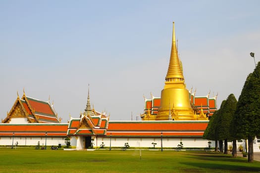
[[[249,74],[238,101],[234,94],[223,100],[220,109],[214,112],[204,138],[215,140],[215,150],[227,154],[227,141],[232,140],[232,156],[237,157],[237,139],[248,139],[248,162],[254,161],[253,141],[260,136],[260,62],[254,72]]]

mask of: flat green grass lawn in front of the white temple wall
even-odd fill
[[[205,151],[0,148],[0,173],[252,173],[260,162]]]

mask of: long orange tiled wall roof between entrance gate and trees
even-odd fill
[[[109,122],[106,135],[112,136],[163,136],[202,137],[208,121],[138,121]]]

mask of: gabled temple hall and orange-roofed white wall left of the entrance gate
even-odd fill
[[[60,118],[49,101],[26,96],[17,98],[0,123],[0,145],[58,145],[67,137],[67,123]]]

